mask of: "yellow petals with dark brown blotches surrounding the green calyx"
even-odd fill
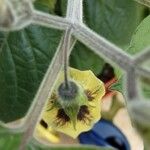
[[[81,132],[90,130],[101,118],[101,99],[105,94],[105,86],[91,71],[79,71],[70,68],[69,74],[71,80],[78,83],[87,95],[86,105],[81,106],[85,109],[83,109],[83,111],[81,110],[81,112],[79,111],[80,114],[78,113],[76,128],[73,126],[73,121],[65,114],[64,108],[53,105],[51,102],[52,98],[50,98],[49,103],[47,104],[47,107],[52,109],[48,110],[46,107],[42,118],[49,127],[76,138]],[[56,95],[58,94],[56,91],[63,80],[63,72],[61,72],[54,86]]]

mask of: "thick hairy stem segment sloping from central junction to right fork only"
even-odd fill
[[[108,42],[105,38],[97,35],[92,30],[83,25],[75,26],[75,37],[91,48],[100,57],[109,59],[112,63],[119,65],[122,69],[127,70],[132,64],[132,58],[120,48]]]

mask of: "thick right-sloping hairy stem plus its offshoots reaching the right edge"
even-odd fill
[[[108,42],[105,38],[97,35],[95,32],[87,28],[82,24],[74,25],[75,31],[73,34],[75,37],[85,44],[87,47],[93,50],[96,54],[104,59],[110,61],[111,63],[120,67],[125,71],[128,71],[130,68],[134,67],[137,75],[150,78],[150,71],[142,68],[141,66],[136,65],[136,61],[139,59],[141,53],[136,56],[131,56],[126,54],[122,49]],[[147,53],[147,55],[145,54]],[[141,60],[143,62],[148,58],[149,50],[145,53],[142,52],[143,57]]]

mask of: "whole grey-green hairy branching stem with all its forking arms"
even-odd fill
[[[19,0],[15,1],[19,2]],[[135,1],[150,7],[149,0],[135,0]],[[19,30],[20,28],[23,28],[32,23],[36,25],[45,26],[48,28],[65,30],[65,36],[61,39],[60,45],[53,58],[53,61],[48,68],[48,71],[35,96],[34,103],[30,108],[30,111],[26,117],[26,121],[24,123],[26,131],[24,133],[23,140],[20,145],[20,150],[25,149],[25,145],[33,136],[33,132],[36,127],[36,124],[39,121],[42,109],[46,103],[47,98],[51,94],[53,84],[57,78],[60,69],[62,68],[62,64],[64,64],[64,76],[66,87],[68,86],[67,68],[69,57],[68,55],[70,53],[70,52],[68,53],[68,51],[70,51],[70,42],[74,43],[74,41],[71,41],[72,35],[74,35],[76,39],[81,41],[87,47],[91,48],[91,50],[96,54],[98,54],[100,57],[101,56],[104,57],[106,60],[110,61],[111,63],[114,63],[115,65],[118,65],[121,69],[126,71],[127,73],[126,89],[128,100],[139,99],[136,81],[137,76],[140,75],[150,78],[150,70],[146,70],[145,68],[141,67],[139,61],[141,63],[144,63],[145,60],[149,58],[150,55],[149,50],[147,52],[140,53],[138,56],[135,57],[130,56],[125,52],[123,52],[123,50],[121,50],[117,46],[107,41],[105,38],[101,37],[94,31],[86,27],[83,23],[83,14],[82,14],[83,0],[68,0],[66,18],[34,10],[30,0],[20,1],[20,3],[22,2],[27,4],[26,6],[28,7],[26,9],[26,7],[23,7],[24,5],[18,5],[18,7],[20,7],[20,10],[22,10],[21,9],[22,7],[24,8],[26,14],[22,14],[22,11],[19,11],[19,13],[16,14],[15,17],[18,18],[16,28],[13,28],[10,25],[10,27],[7,28],[0,26],[0,29],[3,30],[5,29],[8,31],[16,29]],[[21,19],[19,19],[19,17],[21,17]],[[0,22],[3,23],[3,20],[0,20]],[[138,66],[136,66],[136,63],[138,64]]]

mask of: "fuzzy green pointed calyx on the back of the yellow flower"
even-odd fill
[[[58,88],[59,99],[58,102],[64,109],[65,113],[69,116],[73,123],[74,129],[76,130],[77,116],[82,105],[88,105],[88,99],[84,92],[84,89],[74,81],[70,81],[71,89],[63,91],[61,86]],[[75,89],[73,89],[75,88]],[[72,93],[71,93],[72,92]],[[66,99],[65,99],[66,98]]]

